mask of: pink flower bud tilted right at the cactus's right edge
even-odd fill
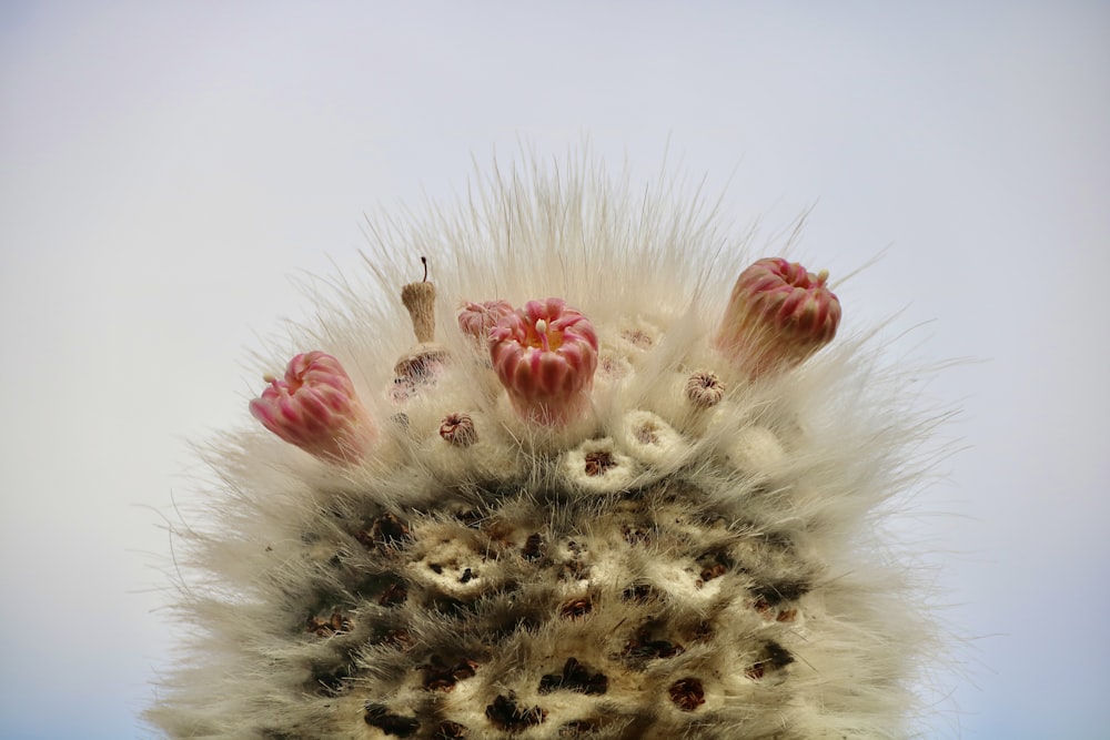
[[[740,273],[717,332],[717,348],[751,378],[803,363],[833,341],[840,302],[825,282],[781,257]]]

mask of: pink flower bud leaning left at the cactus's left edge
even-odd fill
[[[374,437],[370,416],[340,362],[323,352],[290,361],[285,379],[251,402],[251,414],[285,442],[327,462],[359,458]]]

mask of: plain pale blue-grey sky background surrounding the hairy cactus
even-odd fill
[[[364,212],[589,135],[902,310],[963,413],[907,536],[962,649],[930,737],[1110,737],[1110,6],[0,1],[0,737],[153,737],[160,527]],[[847,320],[846,320],[847,321]]]

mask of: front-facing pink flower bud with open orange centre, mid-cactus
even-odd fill
[[[490,332],[490,357],[516,412],[558,426],[579,416],[589,403],[597,335],[562,298],[528,301]]]

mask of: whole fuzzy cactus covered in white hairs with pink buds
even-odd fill
[[[380,284],[321,296],[262,426],[212,446],[167,737],[912,733],[900,376],[861,333],[821,349],[826,273],[698,264],[696,209],[563,173],[375,232]],[[444,244],[436,285],[394,239]]]

